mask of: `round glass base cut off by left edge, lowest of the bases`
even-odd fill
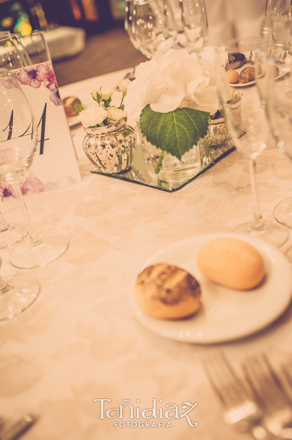
[[[39,282],[27,275],[3,278],[10,288],[0,293],[0,320],[11,319],[28,308],[39,295]]]

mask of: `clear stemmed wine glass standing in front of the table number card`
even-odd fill
[[[68,247],[68,239],[61,234],[36,233],[19,187],[32,164],[37,140],[37,123],[28,101],[13,74],[0,69],[0,181],[11,185],[29,232],[29,239],[10,255],[10,263],[23,269],[51,263]]]

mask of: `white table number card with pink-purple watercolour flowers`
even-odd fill
[[[13,73],[32,107],[38,125],[38,146],[33,163],[21,180],[22,193],[39,193],[80,182],[74,146],[52,63],[22,67],[13,70]],[[5,86],[9,87],[9,84],[3,78],[0,87]],[[13,127],[10,129],[13,130]],[[2,199],[9,195],[9,191],[2,191]]]

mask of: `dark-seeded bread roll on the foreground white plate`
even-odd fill
[[[135,293],[139,307],[155,318],[187,318],[201,307],[201,289],[196,279],[169,264],[154,264],[142,270]]]

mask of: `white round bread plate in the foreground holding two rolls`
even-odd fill
[[[266,278],[248,291],[218,286],[203,276],[196,265],[198,250],[210,240],[234,237],[250,243],[264,258]],[[278,318],[292,297],[292,269],[281,251],[272,245],[240,234],[206,234],[180,240],[162,249],[141,268],[167,263],[191,273],[201,286],[201,310],[188,319],[169,321],[153,318],[140,310],[135,298],[135,280],[130,295],[136,319],[160,336],[177,341],[211,344],[253,334]]]

